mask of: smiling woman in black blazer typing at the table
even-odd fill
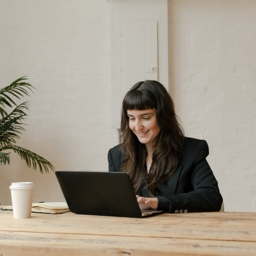
[[[109,150],[109,171],[130,175],[141,209],[219,211],[222,197],[206,160],[207,142],[184,136],[159,82],[138,82],[125,95],[120,142]]]

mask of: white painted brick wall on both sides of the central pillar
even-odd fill
[[[1,0],[0,87],[27,75],[37,90],[18,145],[56,169],[104,171],[118,143],[110,118],[110,3]],[[169,0],[169,83],[188,136],[204,138],[225,209],[256,211],[256,1]],[[62,200],[54,173],[12,153],[9,185],[33,181],[35,201]]]

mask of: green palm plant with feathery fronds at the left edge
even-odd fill
[[[11,85],[0,89],[0,164],[10,164],[10,152],[14,151],[22,160],[26,161],[27,166],[33,169],[49,172],[54,170],[52,164],[45,158],[36,153],[16,145],[16,139],[24,131],[24,119],[28,110],[28,102],[17,105],[14,99],[29,96],[29,93],[35,89],[29,83],[26,83],[25,76],[15,80]]]

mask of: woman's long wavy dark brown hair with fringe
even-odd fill
[[[127,110],[156,109],[160,133],[153,148],[152,169],[146,174],[146,146],[129,128]],[[183,128],[177,120],[174,104],[165,87],[157,81],[138,82],[122,102],[122,171],[127,172],[137,193],[146,178],[149,196],[154,196],[158,182],[165,183],[177,169],[183,146]]]

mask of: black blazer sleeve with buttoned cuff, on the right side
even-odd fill
[[[171,180],[157,196],[158,209],[170,213],[219,211],[223,199],[206,160],[207,142],[197,140],[196,146],[189,146],[185,150],[178,178]],[[171,186],[176,186],[173,194],[168,192]]]

